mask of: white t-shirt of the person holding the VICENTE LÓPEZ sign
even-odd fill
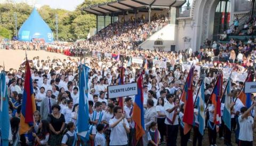
[[[109,125],[114,124],[118,119],[115,117],[109,120]],[[123,126],[125,123],[126,128],[129,128],[128,121],[126,119],[120,121],[114,128],[111,128],[110,133],[110,143],[109,145],[126,145],[127,144],[127,134]],[[118,137],[118,138],[117,138]]]

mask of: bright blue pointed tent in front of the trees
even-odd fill
[[[19,40],[32,42],[36,39],[43,39],[46,43],[52,43],[54,41],[52,30],[34,8],[29,18],[20,27]]]

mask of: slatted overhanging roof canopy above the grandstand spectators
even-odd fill
[[[86,7],[83,10],[96,15],[106,15],[130,10],[143,10],[151,8],[169,8],[170,6],[182,6],[186,0],[119,0],[100,5]]]

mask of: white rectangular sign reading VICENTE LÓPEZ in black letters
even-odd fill
[[[137,83],[108,86],[108,97],[110,99],[130,96],[130,95],[137,95],[137,94],[138,94]]]

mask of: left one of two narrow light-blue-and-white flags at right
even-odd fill
[[[205,128],[205,116],[204,116],[204,79],[202,79],[201,87],[198,92],[198,121],[199,121],[199,132],[201,135],[204,135],[204,128]]]

